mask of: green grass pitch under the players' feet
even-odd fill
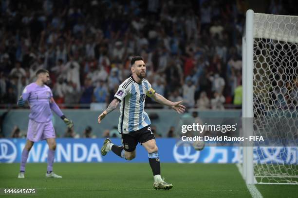
[[[161,165],[162,176],[174,187],[154,190],[149,164],[54,164],[62,179],[46,179],[46,164],[27,164],[25,179],[17,179],[19,164],[0,164],[0,197],[35,198],[250,198],[234,164]],[[36,195],[4,195],[3,189],[36,189]],[[257,185],[263,198],[297,198],[297,185]]]

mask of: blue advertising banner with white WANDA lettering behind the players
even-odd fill
[[[121,140],[112,138],[112,142],[121,145]],[[136,148],[136,158],[126,161],[112,152],[102,156],[100,148],[104,138],[97,139],[56,139],[55,162],[59,163],[148,163],[148,153],[141,145]],[[238,163],[242,161],[241,147],[205,147],[198,151],[185,142],[175,138],[157,138],[158,153],[163,163]],[[0,163],[19,163],[25,139],[0,139]],[[46,141],[36,142],[30,151],[29,163],[45,163],[48,155]],[[262,158],[256,163],[297,164],[298,147],[257,147],[255,153],[261,152]]]

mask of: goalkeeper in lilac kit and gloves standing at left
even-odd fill
[[[73,122],[66,118],[53,99],[53,93],[46,83],[50,80],[49,71],[39,69],[36,73],[37,81],[27,85],[18,101],[19,106],[24,106],[28,101],[31,113],[27,132],[26,145],[22,151],[21,164],[18,178],[25,178],[25,165],[28,154],[33,144],[39,140],[47,140],[49,145],[47,178],[62,178],[53,172],[53,163],[56,149],[56,134],[52,123],[52,111],[61,117],[68,128],[74,126]]]

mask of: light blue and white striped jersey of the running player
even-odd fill
[[[120,133],[134,132],[151,124],[144,107],[146,95],[151,97],[154,93],[151,84],[145,79],[139,84],[131,76],[120,84],[114,95],[121,103],[118,124]]]

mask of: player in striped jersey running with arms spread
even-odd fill
[[[100,123],[121,103],[118,131],[121,133],[122,146],[116,146],[110,139],[106,139],[101,148],[101,154],[106,155],[112,150],[119,157],[132,160],[135,158],[135,148],[139,142],[148,151],[149,164],[154,178],[153,187],[169,190],[173,185],[166,183],[160,175],[158,148],[154,134],[150,129],[149,116],[144,111],[145,98],[147,95],[155,101],[173,108],[179,114],[185,111],[185,106],[180,104],[182,101],[172,102],[155,93],[151,84],[144,79],[146,65],[141,56],[133,57],[130,64],[132,76],[120,84],[108,108],[98,116],[98,123]]]

